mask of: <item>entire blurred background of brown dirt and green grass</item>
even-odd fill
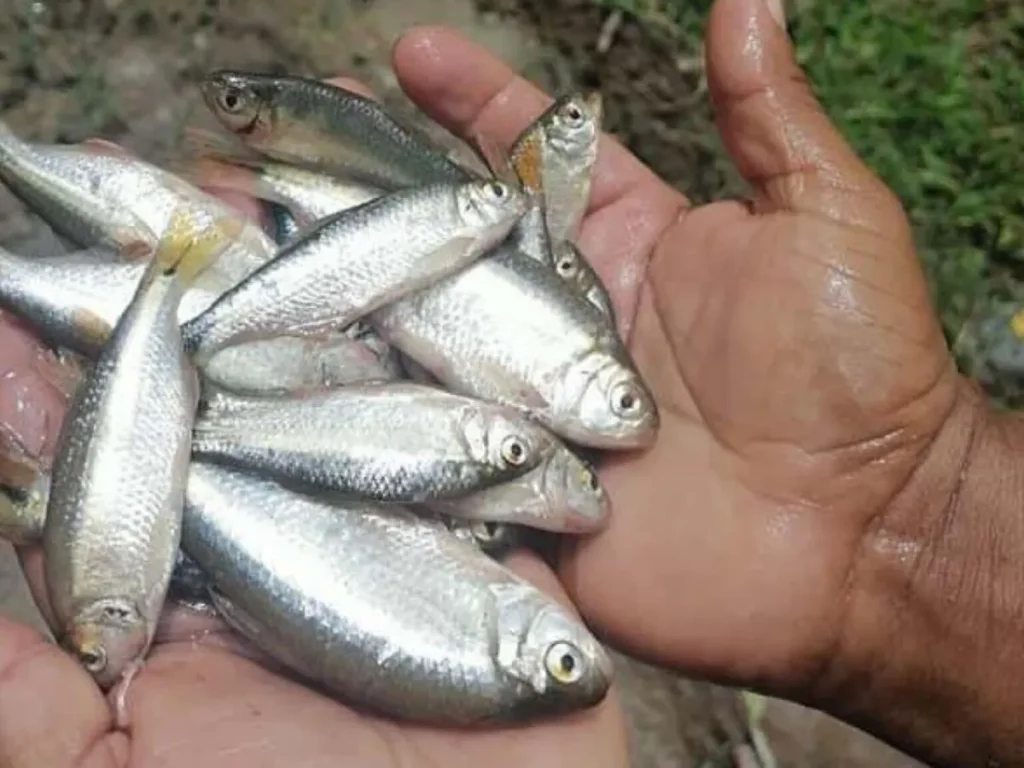
[[[198,78],[215,67],[352,75],[411,106],[395,37],[456,27],[551,92],[599,87],[606,128],[695,202],[744,189],[707,100],[711,0],[2,0],[0,117],[20,135],[101,136],[161,163],[208,125]],[[818,95],[901,197],[962,370],[1024,404],[1024,4],[788,0]],[[441,138],[446,138],[441,136]],[[46,232],[0,190],[0,244]],[[4,553],[0,552],[0,555]],[[0,611],[31,620],[9,557]],[[916,765],[799,707],[617,657],[638,768]],[[743,767],[745,768],[745,766]]]

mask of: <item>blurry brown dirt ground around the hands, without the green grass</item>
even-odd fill
[[[605,15],[586,0],[5,0],[0,116],[45,141],[102,136],[156,162],[186,124],[210,124],[194,83],[214,67],[349,74],[404,109],[388,69],[401,29],[462,29],[549,90],[597,84],[607,127],[696,200],[739,189],[707,127],[698,68],[626,22],[597,52]],[[688,116],[683,120],[681,116]],[[705,116],[705,117],[701,117]],[[0,243],[45,250],[46,233],[0,194]],[[31,621],[24,586],[0,550],[0,611]],[[617,656],[638,768],[731,765],[748,739],[738,692]],[[763,729],[780,766],[916,765],[824,716],[769,701]],[[767,768],[767,766],[766,766]]]

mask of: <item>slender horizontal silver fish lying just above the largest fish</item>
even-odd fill
[[[414,382],[294,397],[217,392],[193,455],[347,499],[413,504],[513,479],[556,447],[519,412]]]

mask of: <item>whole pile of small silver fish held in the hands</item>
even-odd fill
[[[43,548],[59,642],[127,685],[177,585],[368,711],[595,706],[601,645],[493,545],[601,530],[584,454],[658,429],[577,246],[600,98],[475,142],[484,172],[319,81],[202,91],[227,130],[189,129],[168,168],[0,126],[0,179],[71,244],[0,252],[0,306],[85,360],[52,466],[0,513]]]

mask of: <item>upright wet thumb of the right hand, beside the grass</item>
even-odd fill
[[[718,0],[707,58],[722,140],[759,208],[831,213],[836,194],[890,197],[811,92],[782,0]]]

